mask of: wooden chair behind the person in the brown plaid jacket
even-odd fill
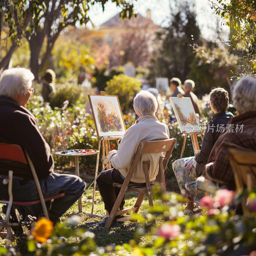
[[[236,182],[236,192],[245,188],[249,191],[256,188],[256,151],[248,148],[228,148],[228,160],[232,167]],[[244,214],[248,213],[245,199],[242,200]]]

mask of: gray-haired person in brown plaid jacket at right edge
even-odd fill
[[[256,150],[256,79],[244,76],[231,91],[238,116],[228,122],[225,132],[214,144],[203,176],[235,190],[234,174],[227,159],[228,147],[238,145]]]

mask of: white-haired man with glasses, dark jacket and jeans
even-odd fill
[[[35,116],[26,104],[33,94],[32,80],[34,75],[26,68],[5,70],[0,77],[0,142],[18,144],[26,149],[34,164],[44,197],[55,196],[65,192],[65,196],[57,198],[49,210],[49,218],[53,222],[59,219],[69,207],[83,194],[85,182],[75,176],[54,173],[54,163],[49,145],[40,133]],[[8,171],[13,171],[13,200],[38,200],[35,181],[27,164],[0,162],[0,197],[8,199],[8,186],[3,180]],[[38,218],[42,213],[41,204],[17,206],[23,218],[32,215]]]

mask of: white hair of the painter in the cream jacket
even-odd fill
[[[155,115],[157,109],[156,97],[148,91],[140,91],[133,100],[133,107],[140,115]]]

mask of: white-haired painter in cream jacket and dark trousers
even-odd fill
[[[166,140],[169,139],[169,130],[166,124],[160,123],[156,116],[157,101],[156,97],[147,91],[140,91],[136,94],[133,107],[139,119],[125,133],[118,150],[112,150],[108,154],[108,161],[114,168],[102,172],[97,179],[100,195],[105,204],[105,209],[111,212],[120,188],[113,187],[113,182],[124,183],[124,179],[128,174],[129,165],[132,163],[133,157],[139,147],[141,140]],[[156,169],[158,165],[159,153],[144,154],[139,161],[135,172],[132,175],[130,184],[133,186],[141,186],[145,183],[145,176],[142,168],[142,162],[150,160],[149,180],[154,182],[156,179]],[[124,206],[124,199],[120,205],[120,209]],[[115,219],[118,219],[116,216]],[[104,227],[108,217],[95,226]],[[114,220],[112,225],[117,222]]]

